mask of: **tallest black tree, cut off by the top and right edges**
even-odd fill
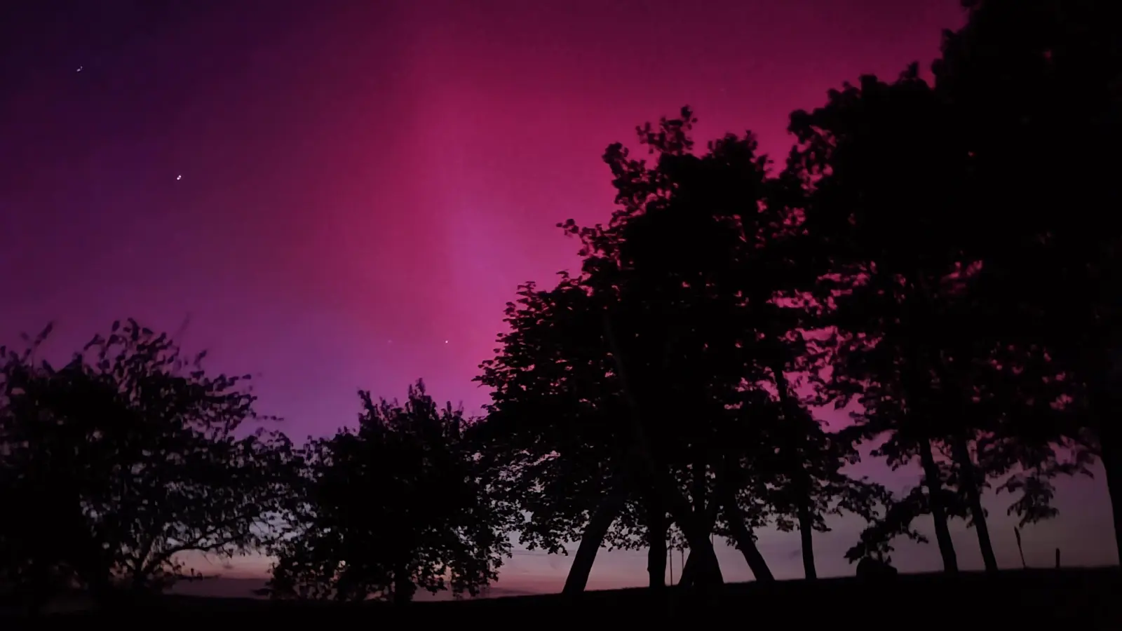
[[[1005,386],[1004,402],[1018,403],[1005,433],[1019,440],[994,458],[1022,469],[1006,486],[1027,492],[1014,510],[1031,521],[1051,514],[1049,478],[1085,472],[1101,446],[1122,545],[1122,231],[1103,210],[1122,201],[1122,157],[1103,149],[1122,139],[1118,10],[1093,0],[964,6],[969,20],[946,34],[932,68],[936,91],[964,141],[978,302],[1001,323],[1000,360],[1029,375]],[[1066,405],[1054,405],[1057,391]],[[1057,463],[1056,443],[1075,456]]]

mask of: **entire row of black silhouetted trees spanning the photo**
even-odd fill
[[[1122,524],[1122,49],[1109,3],[966,2],[934,79],[863,76],[791,115],[782,165],[751,134],[697,150],[681,115],[608,147],[617,209],[560,225],[579,273],[527,283],[477,381],[484,418],[360,393],[357,429],[294,446],[213,376],[128,321],[62,368],[3,354],[0,554],[9,582],[111,597],[183,576],[184,552],[274,555],[274,597],[478,593],[522,545],[647,549],[664,587],[721,582],[712,538],[772,580],[762,528],[798,530],[808,578],[834,514],[957,570],[949,522],[997,569],[981,497],[1028,524],[1057,476],[1102,460]],[[816,406],[856,410],[828,431]],[[858,446],[921,484],[845,467]]]

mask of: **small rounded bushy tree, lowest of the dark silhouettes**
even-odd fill
[[[404,404],[360,392],[357,429],[303,448],[302,494],[275,547],[275,597],[407,603],[417,589],[477,595],[509,556],[468,421],[424,384]]]

